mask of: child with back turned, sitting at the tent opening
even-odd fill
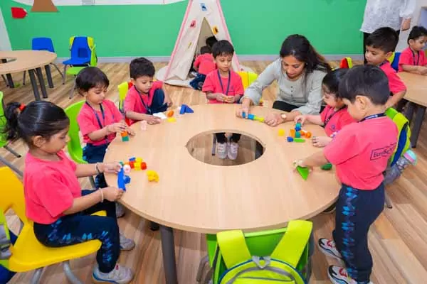
[[[193,87],[193,89],[199,90],[201,90],[201,87],[203,87],[206,75],[216,69],[211,48],[205,45],[200,49],[200,53],[201,54],[197,56],[196,61],[194,61],[194,70],[196,70],[197,75],[190,82],[190,86]]]

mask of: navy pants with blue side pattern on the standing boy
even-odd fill
[[[357,283],[369,283],[372,257],[368,248],[368,231],[383,209],[383,183],[375,190],[357,190],[342,185],[339,191],[332,236],[347,272]]]

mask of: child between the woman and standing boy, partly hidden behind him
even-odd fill
[[[295,123],[304,124],[305,121],[325,128],[326,136],[312,138],[313,146],[325,147],[332,141],[332,137],[354,119],[347,111],[347,106],[339,97],[338,87],[347,69],[337,69],[328,73],[322,80],[323,99],[327,106],[320,115],[300,115],[295,117]]]

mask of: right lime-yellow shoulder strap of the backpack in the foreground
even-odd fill
[[[285,234],[271,253],[271,258],[285,261],[295,268],[310,239],[312,227],[313,224],[309,221],[290,221]]]

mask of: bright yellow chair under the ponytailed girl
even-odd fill
[[[9,259],[9,270],[15,272],[34,271],[31,283],[39,283],[43,268],[56,263],[63,263],[64,273],[70,283],[82,284],[70,269],[70,259],[88,256],[100,249],[101,242],[94,240],[73,246],[49,248],[38,242],[33,231],[33,222],[25,214],[23,185],[16,175],[6,167],[0,168],[1,198],[0,208],[6,212],[13,209],[23,223],[16,243],[11,246],[12,256]],[[95,213],[105,216],[105,212]]]

